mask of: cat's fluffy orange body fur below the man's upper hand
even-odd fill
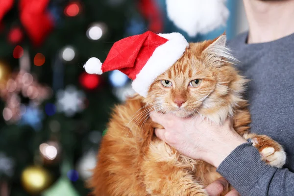
[[[156,126],[148,118],[141,99],[129,99],[114,110],[98,153],[91,187],[99,196],[172,195],[185,180],[197,190],[221,177],[216,168],[181,155],[154,135]],[[136,117],[136,115],[138,115]],[[191,183],[187,183],[190,186]],[[192,190],[192,189],[187,189]],[[103,193],[103,194],[102,194]],[[183,195],[184,193],[173,193]]]

